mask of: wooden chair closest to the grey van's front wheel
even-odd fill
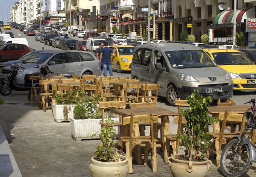
[[[159,89],[160,89],[159,83],[157,83],[157,84],[147,84],[146,83],[145,85],[142,85],[141,96],[139,96],[139,98],[141,98],[141,102],[152,101],[152,98],[153,98],[153,100],[157,100],[157,95],[158,95]],[[151,94],[152,90],[156,90],[155,96],[152,96],[152,94]]]

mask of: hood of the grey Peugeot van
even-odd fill
[[[188,74],[193,77],[210,77],[210,76],[226,76],[225,70],[220,67],[205,67],[205,68],[175,68],[177,71]]]

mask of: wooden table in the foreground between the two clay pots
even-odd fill
[[[159,118],[161,118],[161,124],[162,124],[162,136],[160,137],[160,141],[163,144],[163,151],[164,151],[164,162],[168,163],[168,151],[169,149],[166,149],[165,144],[166,143],[166,137],[164,137],[164,135],[169,134],[169,126],[170,126],[170,122],[169,122],[169,116],[178,116],[178,113],[175,113],[173,111],[169,111],[167,109],[161,108],[161,107],[152,107],[152,108],[137,108],[137,109],[118,109],[118,110],[113,110],[114,113],[119,114],[123,117],[128,117],[131,115],[131,112],[134,115],[150,115],[151,113],[153,115],[158,116]],[[156,127],[155,127],[156,128]],[[124,136],[128,135],[129,136],[129,128],[128,129],[123,129],[122,130],[124,132],[121,132]],[[135,132],[134,136],[139,136],[139,129],[138,126],[137,128],[135,128],[134,130],[137,130]],[[156,137],[157,135],[155,135]],[[140,161],[141,160],[141,161]],[[138,161],[136,161],[138,163],[142,164],[142,158],[139,159]]]

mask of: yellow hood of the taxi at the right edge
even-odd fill
[[[256,73],[255,65],[220,65],[220,68],[232,73]]]

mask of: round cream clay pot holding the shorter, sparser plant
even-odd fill
[[[129,166],[128,159],[123,155],[119,155],[121,162],[100,162],[95,160],[96,156],[92,157],[90,171],[92,177],[127,177]]]

